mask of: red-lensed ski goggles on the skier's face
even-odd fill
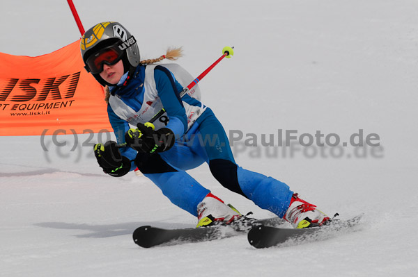
[[[103,71],[104,64],[115,65],[123,57],[124,51],[121,50],[120,46],[121,43],[117,43],[104,47],[88,57],[85,66],[87,71],[92,74],[99,74]]]

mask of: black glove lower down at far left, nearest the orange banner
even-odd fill
[[[114,177],[121,177],[130,171],[131,162],[121,155],[116,142],[106,142],[94,145],[94,156],[98,159],[104,173]]]

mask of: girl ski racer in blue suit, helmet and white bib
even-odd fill
[[[203,162],[224,187],[295,228],[330,221],[285,183],[235,163],[224,128],[199,101],[198,88],[180,97],[192,76],[176,64],[155,65],[164,58],[176,60],[179,49],[141,61],[127,29],[118,22],[102,22],[84,33],[81,52],[86,70],[107,86],[107,112],[118,141],[94,146],[104,173],[119,177],[138,167],[172,203],[196,216],[198,227],[242,217],[186,173]]]

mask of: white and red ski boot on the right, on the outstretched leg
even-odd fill
[[[297,193],[293,194],[291,204],[283,218],[294,228],[317,227],[331,221],[330,217],[316,208],[316,205],[300,199]]]

